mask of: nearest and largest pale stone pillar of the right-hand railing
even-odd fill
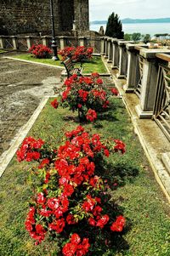
[[[139,54],[144,58],[144,68],[139,105],[135,106],[135,110],[139,118],[151,118],[153,116],[158,75],[156,54],[170,54],[170,50],[165,48],[148,48],[141,49]]]

